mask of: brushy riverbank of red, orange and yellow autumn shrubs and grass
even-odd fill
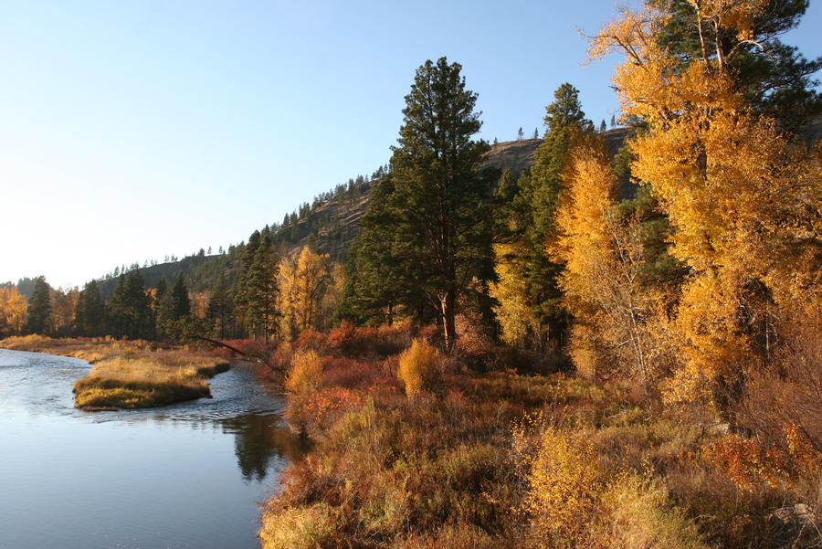
[[[264,509],[264,548],[820,542],[800,486],[732,480],[711,410],[534,374],[481,338],[404,356],[418,335],[343,328],[279,349],[287,415],[314,446]]]

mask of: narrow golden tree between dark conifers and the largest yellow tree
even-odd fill
[[[657,348],[649,324],[658,300],[639,282],[639,223],[615,207],[618,178],[605,143],[596,137],[586,142],[572,150],[557,237],[549,244],[553,259],[564,266],[559,285],[574,316],[570,354],[585,375],[621,372],[644,386]]]

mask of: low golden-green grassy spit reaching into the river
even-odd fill
[[[75,406],[87,410],[165,406],[210,396],[207,378],[228,368],[224,356],[142,341],[13,337],[0,347],[73,356],[93,364],[74,384]]]

